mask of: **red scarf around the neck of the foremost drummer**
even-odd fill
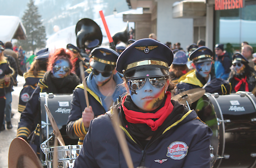
[[[166,92],[167,98],[165,105],[160,108],[156,113],[143,113],[136,112],[133,110],[128,110],[124,106],[124,100],[126,96],[122,99],[122,109],[124,110],[124,115],[129,123],[134,124],[147,124],[152,131],[156,131],[158,126],[163,124],[163,121],[171,114],[173,111],[173,104],[171,103],[171,92]],[[152,119],[157,119],[156,121]]]

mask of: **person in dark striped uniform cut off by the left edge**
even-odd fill
[[[9,67],[7,59],[4,57],[4,47],[0,46],[0,130],[4,121],[4,108],[6,107],[5,90],[10,84],[10,77],[6,75],[12,74],[13,70]]]

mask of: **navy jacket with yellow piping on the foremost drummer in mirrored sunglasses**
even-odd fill
[[[178,103],[177,101],[171,102],[173,105]],[[119,110],[118,106],[114,108]],[[153,135],[145,148],[138,145],[133,135],[121,126],[126,134],[135,168],[137,166],[147,168],[210,167],[211,129],[200,121],[194,110],[187,111],[184,108],[183,114],[182,118],[175,123],[163,125],[163,129],[158,128],[156,136]],[[74,162],[74,168],[127,168],[111,125],[110,115],[111,113],[107,112],[91,121],[83,148]],[[178,150],[178,146],[184,148]],[[163,162],[159,163],[160,160]]]

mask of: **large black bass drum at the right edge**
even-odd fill
[[[191,105],[213,131],[211,167],[254,168],[256,165],[256,98],[250,92],[206,93]]]

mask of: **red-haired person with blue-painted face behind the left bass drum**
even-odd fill
[[[28,141],[28,136],[35,134],[33,141],[29,142],[35,152],[40,151],[39,132],[41,121],[37,123],[37,118],[41,117],[39,93],[72,94],[75,87],[80,84],[80,79],[73,73],[74,63],[71,60],[71,55],[70,51],[61,48],[49,57],[47,72],[43,79],[39,80],[37,88],[21,113],[17,137]]]

